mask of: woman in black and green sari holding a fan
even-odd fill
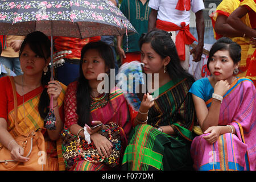
[[[194,79],[181,67],[175,44],[166,31],[142,35],[139,45],[144,73],[159,74],[159,83],[152,79],[152,85],[158,84],[159,89],[143,96],[122,169],[192,169],[190,146],[196,114],[188,90]]]

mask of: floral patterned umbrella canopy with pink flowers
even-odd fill
[[[0,35],[26,36],[34,31],[80,39],[137,32],[108,0],[0,1]]]

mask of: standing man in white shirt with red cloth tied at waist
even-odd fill
[[[196,15],[196,29],[199,43],[190,53],[193,61],[200,61],[204,47],[204,2],[203,0],[150,0],[151,13],[148,19],[148,31],[158,28],[172,33],[180,57],[181,65],[188,71],[189,46],[197,41],[189,32],[190,10]]]

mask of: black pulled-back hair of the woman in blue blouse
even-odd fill
[[[237,64],[241,60],[241,46],[236,42],[233,42],[229,38],[222,37],[212,45],[212,48],[210,48],[209,57],[207,60],[208,69],[209,69],[210,60],[212,59],[212,56],[214,55],[214,53],[217,51],[229,51],[229,56],[233,60],[234,64]]]

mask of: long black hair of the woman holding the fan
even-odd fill
[[[174,42],[171,39],[171,35],[164,30],[152,30],[147,32],[147,34],[142,34],[139,39],[139,47],[142,47],[142,44],[150,43],[152,49],[158,53],[162,59],[169,56],[171,58],[170,63],[167,64],[167,72],[172,80],[176,78],[192,78],[192,75],[185,72],[181,67],[180,59],[177,54],[177,49]]]

